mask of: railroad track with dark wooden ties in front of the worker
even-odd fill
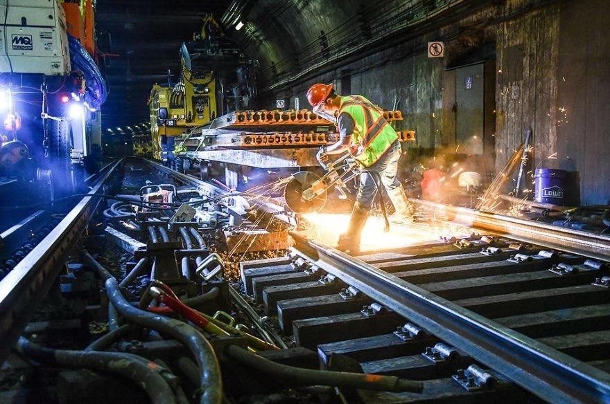
[[[591,245],[578,235],[564,250],[494,234],[358,259],[293,237],[297,259],[242,270],[282,332],[325,367],[340,354],[367,373],[424,380],[419,394],[361,390],[359,401],[609,400],[609,268],[566,252]],[[607,239],[593,238],[599,258]]]

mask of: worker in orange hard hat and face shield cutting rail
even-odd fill
[[[383,118],[383,110],[361,95],[338,95],[333,84],[313,84],[307,91],[312,111],[337,122],[340,138],[329,147],[320,147],[317,154],[321,163],[329,155],[349,152],[363,171],[356,203],[351,212],[347,231],[339,236],[338,250],[357,255],[360,252],[360,235],[381,180],[394,205],[390,220],[412,223],[415,207],[410,203],[400,181],[396,178],[401,145],[394,128]]]

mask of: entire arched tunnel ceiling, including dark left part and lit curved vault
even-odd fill
[[[180,72],[182,42],[212,13],[228,39],[256,61],[259,93],[317,75],[457,19],[483,0],[98,0],[98,48],[110,94],[104,125],[148,119],[153,84]],[[236,30],[238,23],[243,23]],[[110,121],[110,123],[109,123]]]

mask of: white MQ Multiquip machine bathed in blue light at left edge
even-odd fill
[[[1,205],[73,194],[101,157],[94,5],[0,0]]]

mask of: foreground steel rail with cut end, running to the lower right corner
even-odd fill
[[[608,403],[610,374],[328,246],[297,254],[550,403]]]

